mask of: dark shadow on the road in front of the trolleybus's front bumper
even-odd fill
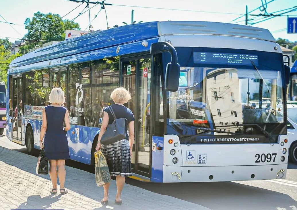
[[[126,183],[136,185],[136,180]],[[143,189],[196,203],[213,210],[276,210],[291,209],[297,202],[289,195],[235,182],[147,183]]]

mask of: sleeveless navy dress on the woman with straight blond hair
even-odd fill
[[[70,158],[67,135],[63,129],[65,113],[64,106],[45,106],[47,129],[44,137],[44,151],[49,160]]]

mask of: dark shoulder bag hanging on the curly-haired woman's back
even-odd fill
[[[113,115],[114,121],[113,123],[109,124],[104,132],[103,136],[101,137],[100,143],[103,145],[113,144],[117,141],[121,141],[122,139],[126,139],[126,129],[125,129],[125,118],[116,119],[116,115],[113,112],[111,106],[108,108]]]

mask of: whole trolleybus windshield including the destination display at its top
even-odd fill
[[[275,116],[284,95],[282,60],[276,63],[274,58],[281,59],[281,55],[248,50],[245,53],[200,50],[177,49],[180,81],[178,91],[167,96],[168,133],[195,135],[220,130],[226,132],[211,135],[263,134],[257,128],[238,126],[259,124],[274,134],[273,128],[284,124],[284,118]],[[274,59],[274,65],[267,62],[269,56]]]

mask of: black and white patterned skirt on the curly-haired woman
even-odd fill
[[[129,141],[123,139],[113,144],[101,145],[111,176],[132,176]]]

